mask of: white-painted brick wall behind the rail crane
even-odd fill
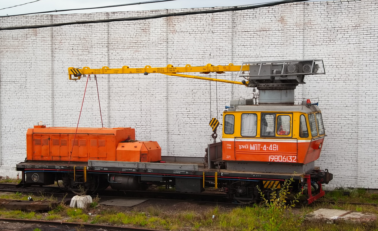
[[[192,9],[182,9],[186,10]],[[20,16],[2,18],[0,25],[174,11]],[[317,164],[334,174],[331,186],[378,188],[377,13],[375,0],[335,0],[0,31],[0,173],[15,174],[12,167],[26,156],[26,129],[37,121],[47,126],[76,126],[85,79],[69,81],[68,67],[240,65],[322,58],[327,74],[308,77],[307,84],[296,90],[297,102],[319,98],[323,112],[328,136]],[[217,78],[240,80],[237,73]],[[253,95],[251,89],[239,85],[159,74],[101,75],[98,83],[104,126],[134,127],[139,140],[156,140],[163,154],[172,156],[203,156],[212,141],[209,118],[222,118],[230,99]],[[88,83],[80,126],[101,126],[94,79]]]

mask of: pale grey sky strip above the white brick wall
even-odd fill
[[[0,9],[9,6],[20,5],[35,0],[0,0]],[[41,11],[51,11],[60,9],[88,8],[97,6],[110,6],[126,3],[146,2],[148,0],[40,0],[23,6],[0,10],[0,16],[12,14],[24,14]],[[134,6],[121,6],[115,8],[91,9],[81,11],[66,11],[50,14],[79,14],[90,12],[111,12],[111,11],[138,11],[150,9],[180,9],[180,8],[200,8],[213,6],[240,6],[251,5],[265,2],[276,2],[278,0],[175,0],[171,2],[149,3]],[[319,0],[318,0],[319,1]],[[314,2],[312,0],[311,2]]]

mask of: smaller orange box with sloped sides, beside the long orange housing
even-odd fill
[[[118,143],[116,161],[156,162],[161,161],[161,147],[156,141]]]

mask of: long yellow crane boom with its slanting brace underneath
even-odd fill
[[[184,78],[193,78],[193,79],[202,79],[208,81],[215,81],[215,82],[225,82],[230,84],[240,84],[240,85],[248,85],[248,81],[246,83],[237,82],[237,81],[230,81],[224,79],[214,79],[214,78],[207,78],[207,77],[200,77],[200,76],[192,76],[187,74],[177,74],[177,73],[201,73],[201,74],[209,74],[211,72],[215,72],[218,74],[225,73],[227,71],[249,71],[248,65],[243,66],[235,66],[234,64],[228,64],[227,66],[214,66],[208,64],[206,66],[199,66],[199,67],[192,67],[189,64],[186,64],[185,67],[174,67],[171,64],[168,64],[167,67],[151,67],[149,65],[145,66],[144,68],[129,68],[128,66],[123,66],[122,68],[109,68],[109,67],[102,67],[101,69],[91,69],[89,67],[84,67],[82,69],[79,68],[68,68],[68,77],[71,80],[80,79],[83,74],[137,74],[137,73],[144,73],[145,75],[149,73],[161,73],[166,74],[169,76],[179,76]]]

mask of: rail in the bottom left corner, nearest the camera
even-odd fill
[[[9,231],[23,231],[23,230],[31,230],[28,225],[32,225],[34,228],[39,228],[41,230],[55,230],[55,231],[69,231],[73,230],[74,228],[80,228],[85,231],[159,231],[157,229],[144,229],[144,228],[130,228],[130,227],[121,227],[121,226],[112,226],[112,225],[95,225],[95,224],[87,224],[87,223],[74,223],[74,222],[53,222],[53,221],[45,221],[45,220],[23,220],[23,219],[7,219],[7,218],[0,218],[0,222],[3,223],[0,230],[9,230]],[[22,224],[25,224],[23,228],[20,229]],[[28,224],[28,225],[26,225]],[[12,229],[8,229],[7,227],[14,227]],[[3,229],[6,227],[7,229]],[[75,229],[76,230],[76,229]]]

